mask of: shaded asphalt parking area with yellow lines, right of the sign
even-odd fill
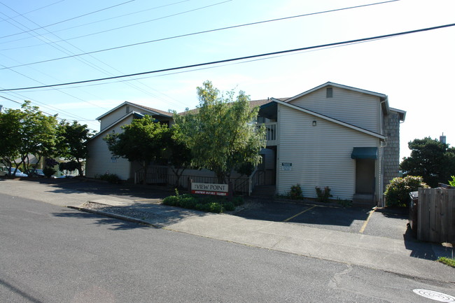
[[[255,220],[270,220],[300,224],[340,232],[362,233],[377,237],[403,239],[407,232],[407,214],[351,207],[293,204],[283,202],[253,202],[236,216]]]

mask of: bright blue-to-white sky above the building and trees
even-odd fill
[[[401,0],[30,64],[368,3],[375,1],[2,0],[0,87],[120,76],[455,23],[453,0]],[[94,119],[123,101],[162,110],[194,108],[196,87],[204,80],[211,80],[220,90],[244,90],[251,99],[292,97],[332,81],[387,94],[391,107],[407,111],[401,125],[401,155],[407,156],[407,142],[416,138],[438,138],[444,132],[447,143],[455,142],[451,124],[454,54],[455,27],[449,27],[204,69],[155,73],[137,77],[139,80],[0,92],[0,96],[20,103],[28,99],[47,113],[99,129]],[[29,65],[18,66],[22,64]],[[3,98],[0,104],[19,106]]]

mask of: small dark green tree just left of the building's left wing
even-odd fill
[[[80,125],[77,121],[62,120],[57,127],[57,155],[76,162],[79,176],[83,176],[83,162],[88,156],[87,141],[92,136],[93,132],[87,125]]]

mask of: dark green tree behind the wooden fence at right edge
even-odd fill
[[[422,176],[431,187],[447,183],[455,173],[455,149],[426,137],[408,143],[411,155],[403,158],[400,167],[405,176]]]

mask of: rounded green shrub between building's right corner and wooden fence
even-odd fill
[[[414,192],[419,188],[429,188],[423,182],[421,176],[405,176],[405,178],[393,178],[386,186],[384,197],[387,206],[408,206],[409,192]]]

